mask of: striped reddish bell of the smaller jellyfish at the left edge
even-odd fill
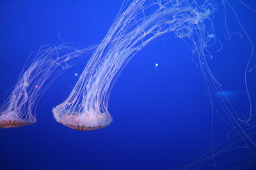
[[[0,116],[0,128],[21,127],[34,124],[35,122],[36,120],[20,118],[19,113],[15,111],[5,112]]]

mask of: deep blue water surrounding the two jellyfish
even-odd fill
[[[256,9],[255,2],[244,2]],[[250,42],[228,6],[226,20],[231,39],[225,39],[223,6],[219,1],[212,3],[218,3],[212,33],[223,48],[218,52],[218,42],[209,47],[213,56],[209,66],[234,108],[247,117],[244,69]],[[84,46],[99,44],[121,5],[122,1],[0,1],[1,103],[6,91],[15,85],[29,53],[42,45],[60,45],[61,39],[65,43],[83,41]],[[239,1],[232,1],[232,6],[256,46],[256,13]],[[255,64],[254,55],[251,66]],[[79,75],[85,65],[86,60],[72,67],[45,92],[36,109],[36,124],[0,129],[0,169],[169,169],[179,162],[185,165],[182,162],[205,148],[209,151],[211,103],[200,69],[182,39],[164,35],[134,56],[111,92],[109,112],[113,123],[97,131],[75,131],[58,124],[51,113],[68,96],[78,79],[75,73]],[[253,69],[248,74],[253,106],[255,77]],[[251,126],[256,125],[255,111],[253,107]],[[217,144],[227,137],[230,127],[217,113],[213,117]],[[255,134],[249,135],[255,139]],[[216,167],[236,154],[237,162],[246,158],[242,161],[247,165],[245,169],[252,169],[256,157],[248,148],[236,148],[239,146],[234,146],[235,152],[227,153],[227,157],[216,158]],[[227,167],[238,168],[237,162]]]

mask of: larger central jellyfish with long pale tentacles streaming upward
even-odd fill
[[[135,0],[126,10],[124,8],[125,5],[93,52],[70,95],[53,108],[57,122],[81,131],[111,124],[108,100],[116,78],[138,51],[163,34],[191,39],[197,62],[209,73],[204,59],[209,31],[205,30],[204,20],[211,18],[214,12],[211,3]]]

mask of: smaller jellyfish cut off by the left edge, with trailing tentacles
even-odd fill
[[[63,71],[73,66],[94,47],[79,50],[69,45],[45,45],[29,67],[24,67],[19,80],[6,102],[0,108],[0,128],[20,127],[36,122],[38,99]],[[51,77],[51,80],[47,81]],[[45,85],[46,84],[46,85]]]

